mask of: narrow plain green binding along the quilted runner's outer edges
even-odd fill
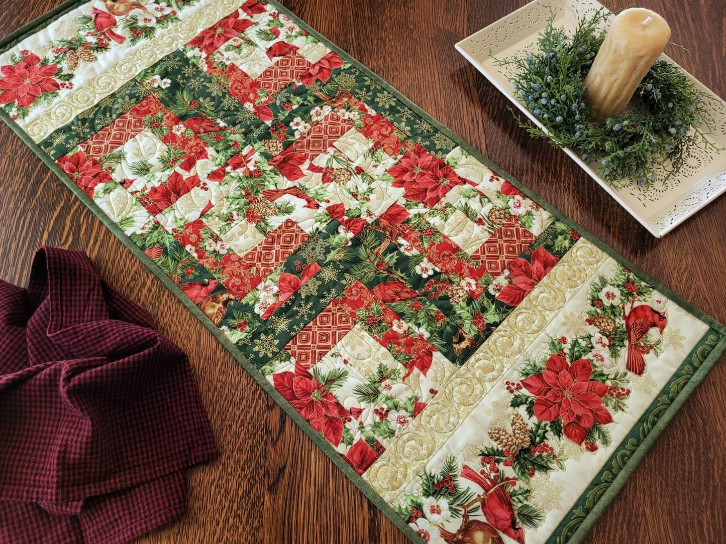
[[[438,120],[431,117],[431,115],[428,115],[428,113],[424,112],[420,109],[416,104],[411,102],[409,99],[407,99],[406,96],[403,96],[399,91],[397,91],[395,88],[391,87],[386,81],[383,81],[381,78],[378,77],[378,75],[375,75],[371,70],[369,70],[366,66],[362,65],[362,63],[358,62],[356,59],[351,57],[349,54],[347,54],[344,51],[341,51],[338,46],[335,46],[332,42],[327,40],[324,36],[321,36],[319,33],[317,33],[316,30],[311,28],[306,22],[303,22],[299,17],[297,17],[295,14],[290,12],[285,7],[282,7],[280,4],[277,3],[275,0],[267,0],[269,4],[274,4],[275,7],[277,7],[278,11],[285,13],[288,17],[293,19],[295,22],[298,23],[298,25],[301,25],[303,28],[309,31],[311,36],[314,36],[319,41],[321,41],[323,44],[328,46],[330,49],[335,51],[336,53],[340,54],[340,57],[346,60],[347,62],[350,62],[351,64],[355,65],[359,70],[361,70],[362,73],[365,73],[370,78],[373,79],[376,83],[378,83],[380,86],[385,88],[387,91],[391,92],[391,94],[395,95],[403,104],[405,104],[407,107],[409,107],[411,110],[417,113],[417,115],[420,115],[423,119],[428,121],[428,123],[431,123],[433,127],[435,127],[437,130],[439,130],[441,133],[443,133],[445,136],[448,136],[449,139],[452,139],[454,143],[458,144],[462,149],[465,149],[467,152],[469,152],[473,157],[475,157],[477,160],[483,162],[487,167],[491,168],[499,174],[499,176],[502,176],[503,178],[507,179],[507,181],[510,181],[515,187],[520,189],[524,194],[529,196],[531,199],[534,199],[539,205],[544,207],[545,210],[550,212],[555,218],[558,218],[563,223],[566,223],[566,225],[570,226],[570,228],[573,228],[575,231],[579,232],[582,236],[584,236],[588,242],[594,244],[596,247],[598,247],[600,250],[605,252],[607,255],[613,257],[617,262],[621,263],[622,265],[627,266],[631,271],[634,271],[637,273],[638,276],[640,276],[642,279],[647,281],[651,286],[658,289],[659,292],[663,293],[666,297],[673,300],[674,302],[677,302],[684,310],[687,310],[688,312],[692,313],[693,316],[698,317],[703,321],[704,323],[708,324],[712,330],[716,331],[717,334],[720,334],[721,338],[717,342],[716,345],[714,345],[713,349],[711,350],[711,353],[703,360],[700,366],[698,366],[697,370],[693,373],[693,376],[688,380],[688,382],[685,384],[684,387],[682,387],[682,390],[676,395],[672,403],[670,403],[669,407],[664,411],[664,413],[661,414],[661,416],[658,418],[658,421],[655,425],[653,425],[653,428],[650,429],[650,432],[645,436],[643,441],[640,443],[640,445],[637,447],[637,449],[632,453],[632,456],[630,456],[629,460],[624,463],[624,466],[622,466],[621,470],[619,471],[618,475],[613,479],[611,484],[608,486],[607,490],[605,490],[605,493],[600,496],[600,498],[595,503],[595,506],[592,507],[590,512],[584,516],[582,519],[582,522],[577,524],[576,529],[574,530],[574,533],[571,538],[569,538],[566,541],[566,544],[579,544],[584,539],[585,535],[587,535],[587,532],[592,529],[592,526],[595,524],[597,519],[600,517],[600,515],[603,514],[603,511],[608,506],[609,503],[615,498],[619,490],[623,487],[625,482],[627,481],[630,474],[632,474],[632,471],[635,470],[638,463],[643,460],[643,457],[645,456],[645,453],[648,452],[650,447],[653,445],[653,443],[656,441],[658,436],[660,436],[661,432],[663,432],[663,429],[666,427],[666,425],[669,423],[671,419],[675,416],[677,411],[681,408],[681,406],[685,403],[685,400],[693,393],[693,390],[698,387],[698,384],[701,383],[701,380],[703,380],[703,377],[706,376],[708,371],[711,369],[712,366],[717,362],[717,360],[720,358],[722,353],[726,351],[726,327],[723,326],[718,321],[714,320],[714,318],[711,318],[711,316],[708,316],[706,313],[703,313],[701,310],[698,310],[698,308],[694,308],[693,305],[690,305],[689,302],[686,302],[685,300],[682,300],[681,297],[679,297],[677,294],[674,294],[670,289],[665,287],[664,285],[660,284],[658,281],[651,278],[648,274],[640,270],[636,265],[631,263],[626,258],[622,257],[618,253],[616,253],[611,247],[609,247],[607,244],[602,242],[600,239],[598,239],[595,236],[592,236],[588,231],[586,231],[584,228],[580,227],[577,223],[574,221],[571,221],[569,218],[565,218],[558,210],[555,210],[552,205],[550,205],[546,200],[539,197],[539,195],[532,191],[531,189],[523,186],[520,181],[518,181],[516,178],[511,176],[509,173],[506,173],[504,170],[499,168],[498,165],[495,165],[491,160],[484,157],[480,152],[478,152],[476,149],[474,149],[470,144],[466,143],[465,141],[462,141],[462,139],[454,134],[452,131],[449,130],[449,128],[446,128],[444,125],[439,123]],[[85,2],[82,0],[67,0],[63,4],[60,4],[60,6],[56,7],[55,9],[52,9],[50,12],[47,12],[45,15],[42,15],[41,17],[38,17],[36,20],[33,20],[29,22],[27,25],[24,25],[23,27],[15,30],[15,32],[11,33],[9,36],[3,38],[0,40],[0,51],[7,50],[12,44],[14,44],[16,41],[19,41],[21,38],[23,38],[26,34],[30,33],[33,30],[36,30],[37,28],[42,28],[46,25],[49,25],[52,21],[56,20],[57,18],[61,17],[65,12],[68,12],[70,9],[73,9],[77,5],[84,4]],[[343,474],[348,477],[348,479],[351,480],[351,482],[356,485],[356,487],[359,488],[359,490],[362,491],[364,495],[377,507],[380,509],[380,511],[385,514],[388,519],[391,519],[391,522],[396,525],[399,529],[401,529],[401,532],[404,533],[412,542],[420,543],[423,542],[423,540],[418,537],[416,532],[412,529],[412,527],[409,526],[406,522],[404,522],[401,517],[396,514],[396,512],[393,511],[393,508],[391,506],[388,506],[388,503],[386,503],[383,498],[378,495],[378,493],[375,492],[375,490],[361,477],[359,474],[350,466],[346,461],[343,461],[343,458],[338,454],[338,452],[335,451],[335,448],[333,448],[333,445],[330,444],[330,442],[327,442],[324,437],[322,437],[321,434],[315,431],[310,424],[305,421],[299,413],[297,413],[293,407],[287,403],[287,401],[282,398],[282,395],[280,395],[277,390],[274,389],[272,384],[270,384],[264,376],[262,376],[258,369],[253,366],[252,363],[250,363],[247,358],[245,358],[244,355],[240,352],[240,350],[235,346],[232,342],[227,339],[227,337],[224,335],[223,332],[219,330],[218,327],[214,326],[214,324],[209,321],[209,319],[202,313],[202,311],[195,305],[191,300],[189,300],[188,297],[184,296],[184,293],[179,289],[179,287],[174,284],[173,281],[168,279],[166,274],[164,274],[160,268],[158,268],[157,265],[149,258],[147,255],[142,252],[142,250],[139,249],[139,247],[134,244],[134,242],[131,242],[131,239],[129,239],[126,234],[121,231],[118,226],[113,223],[113,221],[110,220],[110,218],[103,213],[103,211],[98,207],[98,205],[90,199],[76,184],[73,184],[72,181],[70,181],[70,178],[63,173],[63,171],[60,169],[60,167],[36,144],[35,141],[30,139],[27,133],[23,131],[22,128],[20,128],[15,121],[13,121],[7,112],[0,109],[0,118],[4,120],[7,125],[9,125],[10,128],[12,128],[12,131],[17,134],[17,136],[25,142],[30,149],[33,150],[33,152],[38,155],[38,157],[61,179],[61,181],[67,185],[71,191],[73,191],[74,194],[76,194],[76,197],[81,199],[81,202],[86,205],[86,207],[91,210],[91,212],[99,218],[102,223],[107,226],[107,228],[110,229],[110,231],[115,234],[115,236],[121,240],[121,243],[125,245],[139,260],[146,265],[146,267],[171,291],[173,292],[176,297],[181,301],[181,303],[190,311],[194,316],[197,317],[202,323],[206,326],[206,328],[211,331],[211,333],[216,337],[216,339],[221,342],[222,345],[229,351],[229,353],[234,357],[235,360],[237,360],[240,365],[242,365],[243,368],[252,376],[255,381],[260,384],[260,386],[269,394],[272,396],[272,398],[275,400],[275,402],[282,407],[282,409],[287,413],[288,416],[290,416],[293,421],[295,421],[298,426],[303,429],[303,432],[307,434],[310,439],[321,449],[323,452],[330,458],[333,463],[335,463],[336,466],[338,466],[338,469],[343,471]],[[706,335],[704,335],[703,338],[706,338],[709,335],[710,331],[706,332]],[[696,345],[696,348],[694,348],[693,352],[686,358],[681,366],[679,367],[678,372],[682,372],[683,368],[687,366],[688,360],[693,358],[693,353],[698,350],[698,347],[703,342],[703,339],[701,342]],[[665,391],[668,387],[666,386],[664,388]],[[661,391],[661,392],[662,392]],[[659,397],[656,397],[656,401]],[[652,406],[652,405],[651,405]],[[641,416],[640,421],[645,418],[645,416],[649,416],[650,413],[652,413],[652,410],[650,408],[648,411],[643,413],[643,416]],[[636,429],[638,427],[638,424],[636,424],[633,429]],[[621,453],[621,446],[627,441],[627,439],[623,440],[619,445],[619,450],[616,451],[616,453],[613,453],[613,456],[619,455]],[[588,489],[592,486],[592,482],[595,482],[596,479],[600,478],[603,473],[607,470],[607,467],[609,466],[609,463],[611,461],[608,459],[608,462],[605,463],[603,466],[603,470],[600,471],[600,474],[598,474],[595,478],[593,478],[590,482],[590,485],[588,486]],[[582,500],[582,497],[587,493],[587,489],[584,493],[578,498],[576,501],[576,504]],[[558,529],[555,529],[555,532],[552,533],[552,537],[555,537],[555,533],[558,530],[561,530],[561,525],[565,523],[568,519],[568,517],[571,516],[573,512],[573,508],[568,512],[568,515],[563,518],[563,522],[560,523],[560,526],[558,526]],[[552,537],[550,537],[550,540],[552,540]]]

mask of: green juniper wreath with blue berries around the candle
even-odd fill
[[[515,96],[544,125],[543,130],[520,120],[531,135],[547,138],[555,147],[578,149],[582,160],[599,162],[600,176],[615,186],[624,178],[647,186],[660,169],[673,176],[693,147],[713,147],[706,138],[713,130],[703,104],[706,94],[663,59],[640,82],[626,112],[602,123],[589,121],[584,79],[605,38],[600,23],[615,14],[600,9],[580,20],[571,36],[554,27],[554,15],[539,36],[537,51],[498,61],[514,68],[510,81]]]

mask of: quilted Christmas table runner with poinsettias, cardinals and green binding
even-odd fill
[[[0,67],[4,120],[415,542],[578,542],[726,345],[273,1],[74,1]]]

